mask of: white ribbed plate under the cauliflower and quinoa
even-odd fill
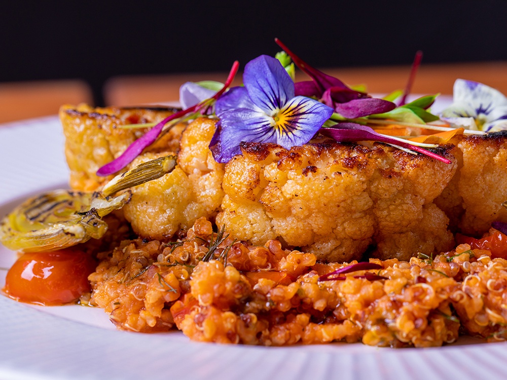
[[[0,214],[22,198],[64,186],[56,117],[0,127]],[[0,246],[0,267],[15,253]],[[0,286],[5,282],[0,271]],[[32,307],[0,296],[0,379],[473,379],[505,378],[507,345],[434,349],[332,344],[265,348],[193,343],[180,332],[117,331],[99,309]]]

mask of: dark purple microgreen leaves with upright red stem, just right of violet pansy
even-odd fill
[[[375,99],[370,95],[347,87],[342,81],[304,62],[280,40],[276,43],[292,58],[312,81],[296,83],[296,95],[313,96],[329,105],[347,119],[362,118],[374,113],[384,113],[396,108],[396,104],[384,99]]]

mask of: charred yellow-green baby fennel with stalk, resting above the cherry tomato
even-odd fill
[[[101,192],[55,190],[26,202],[0,221],[0,242],[21,252],[49,251],[100,239],[107,231],[102,217],[122,208],[129,187],[157,179],[176,166],[174,156],[152,160],[117,175]]]

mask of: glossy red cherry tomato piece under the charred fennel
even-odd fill
[[[7,272],[4,291],[21,302],[62,305],[90,291],[95,260],[75,248],[23,254]]]

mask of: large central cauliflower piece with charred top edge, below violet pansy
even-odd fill
[[[448,219],[432,201],[454,174],[453,149],[441,148],[447,165],[380,144],[243,143],[226,165],[216,221],[238,239],[279,238],[327,261],[359,259],[372,243],[381,258],[450,249]]]

